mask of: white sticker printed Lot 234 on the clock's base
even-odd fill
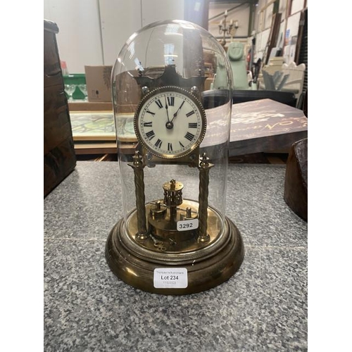
[[[154,287],[156,289],[185,289],[188,286],[186,268],[154,269]]]

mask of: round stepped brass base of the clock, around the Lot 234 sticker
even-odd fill
[[[125,241],[125,222],[120,220],[111,230],[106,241],[106,260],[113,273],[127,284],[153,294],[182,295],[206,291],[230,279],[239,269],[244,259],[244,245],[236,225],[225,218],[225,232],[222,245],[214,246],[213,253],[203,249],[196,253],[196,260],[168,261],[168,255],[160,260],[136,253]],[[225,238],[225,241],[224,241]],[[211,247],[211,246],[210,246]],[[182,254],[180,255],[180,259]],[[156,268],[186,268],[188,286],[186,288],[160,289],[153,283]]]

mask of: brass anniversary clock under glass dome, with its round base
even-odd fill
[[[226,68],[221,101],[205,94],[217,57]],[[241,234],[225,216],[231,87],[225,51],[194,23],[153,23],[120,51],[112,89],[123,217],[108,235],[106,260],[137,289],[204,291],[244,259]]]

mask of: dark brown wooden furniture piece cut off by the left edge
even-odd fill
[[[73,134],[58,55],[58,26],[44,20],[44,196],[76,165]]]

